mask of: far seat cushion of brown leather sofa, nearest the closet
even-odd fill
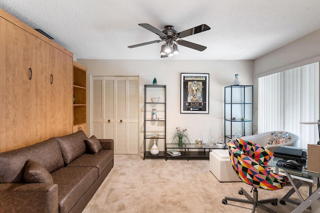
[[[113,159],[113,150],[101,150],[97,154],[82,154],[75,160],[73,160],[67,167],[76,166],[93,166],[96,167],[97,174],[100,175],[101,172],[106,168],[106,166]]]

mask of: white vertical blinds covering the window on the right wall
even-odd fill
[[[319,140],[319,62],[258,78],[258,133],[289,131],[299,135],[297,146]]]

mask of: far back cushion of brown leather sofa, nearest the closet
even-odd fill
[[[55,138],[61,148],[64,164],[69,164],[85,152],[84,140],[87,136],[82,130]]]

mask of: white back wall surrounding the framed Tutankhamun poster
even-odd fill
[[[240,84],[253,83],[252,60],[99,60],[77,59],[87,66],[87,123],[90,128],[90,76],[94,75],[139,75],[140,146],[143,142],[143,93],[144,84],[158,84],[167,88],[167,138],[175,127],[185,127],[192,142],[198,137],[206,142],[210,128],[218,137],[224,118],[224,86],[232,85],[237,73]],[[180,73],[209,73],[209,114],[180,114]],[[168,141],[167,142],[171,142]],[[142,146],[143,147],[143,146]],[[140,149],[140,151],[142,151]]]

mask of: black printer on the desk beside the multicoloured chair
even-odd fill
[[[294,147],[276,147],[273,151],[273,156],[283,159],[292,159],[298,162],[306,162],[306,151]]]

